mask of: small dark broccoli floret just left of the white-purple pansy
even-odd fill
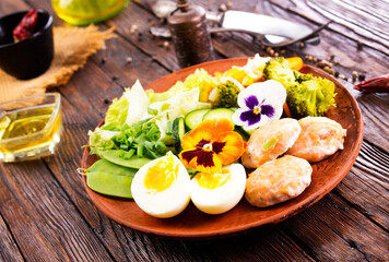
[[[238,107],[238,94],[240,90],[232,81],[217,86],[217,98],[214,107]]]

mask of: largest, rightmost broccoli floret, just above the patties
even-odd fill
[[[313,75],[304,75],[306,81],[302,80],[294,88],[287,92],[286,103],[296,118],[307,116],[320,117],[329,109],[335,106],[335,85],[332,81]]]

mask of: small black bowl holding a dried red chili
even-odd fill
[[[54,57],[52,16],[46,10],[37,10],[38,21],[32,36],[13,41],[12,32],[28,11],[0,19],[0,68],[21,80],[46,72]]]

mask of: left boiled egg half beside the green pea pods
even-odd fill
[[[182,163],[168,152],[142,166],[131,183],[133,200],[151,216],[167,218],[188,205],[190,177]]]

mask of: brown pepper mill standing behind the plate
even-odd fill
[[[203,8],[189,4],[189,0],[177,0],[177,9],[168,15],[167,23],[181,68],[213,60]]]

